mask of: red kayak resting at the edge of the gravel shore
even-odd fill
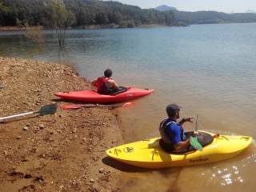
[[[127,102],[135,98],[141,98],[148,94],[152,94],[154,90],[138,89],[135,87],[129,87],[126,91],[119,94],[98,94],[95,90],[82,90],[73,92],[58,92],[55,93],[59,98],[67,100],[80,101],[80,102],[97,102],[97,103],[115,103],[115,102]]]

